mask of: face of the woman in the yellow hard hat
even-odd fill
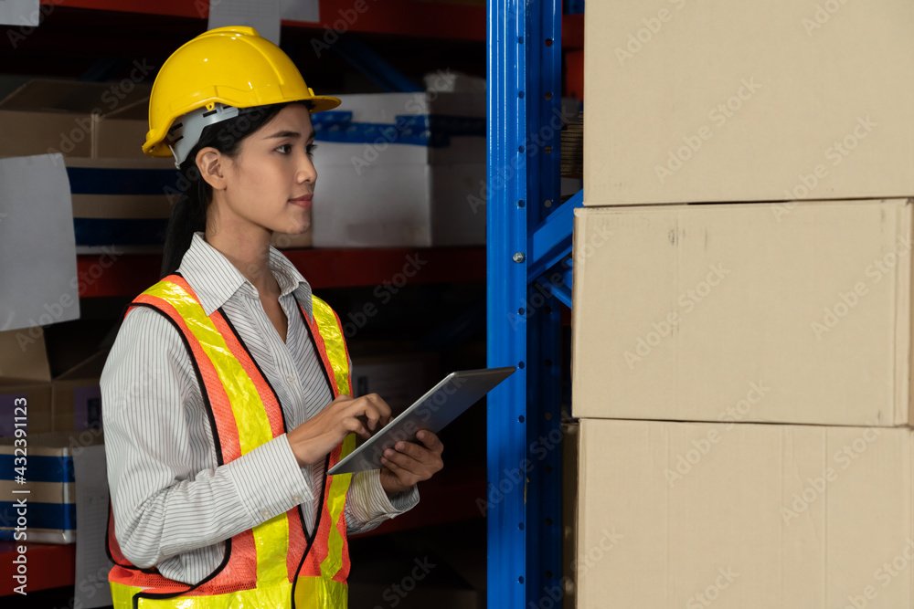
[[[279,232],[301,234],[311,226],[311,195],[317,171],[311,115],[301,104],[290,104],[271,121],[246,137],[239,158],[226,159],[225,210],[220,221],[235,219]],[[223,157],[225,158],[225,157]],[[294,201],[305,197],[303,200]]]

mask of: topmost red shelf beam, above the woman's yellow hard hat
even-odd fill
[[[147,15],[206,19],[207,0],[41,0],[60,5]],[[359,13],[356,9],[362,8]],[[485,40],[485,6],[419,2],[416,0],[320,0],[320,22],[283,20],[285,26],[370,32],[394,36]],[[348,17],[348,18],[347,18]],[[336,22],[343,19],[336,27]]]

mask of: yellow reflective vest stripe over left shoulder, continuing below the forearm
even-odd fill
[[[270,418],[260,400],[257,387],[250,380],[241,362],[228,349],[225,339],[207,317],[203,307],[181,286],[171,281],[160,281],[144,294],[164,299],[175,307],[184,318],[187,328],[200,341],[203,352],[219,375],[225,387],[235,423],[238,426],[239,447],[242,455],[273,439]],[[251,532],[257,549],[257,585],[271,586],[289,583],[286,553],[289,550],[289,520],[285,513],[261,522]]]

